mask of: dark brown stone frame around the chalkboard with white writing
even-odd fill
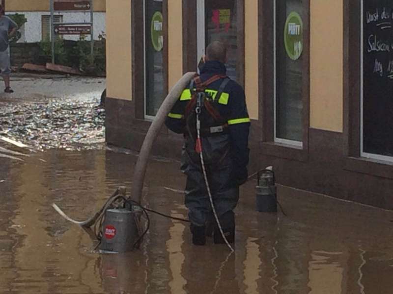
[[[363,1],[343,3],[344,170],[393,179],[392,159],[363,152]]]

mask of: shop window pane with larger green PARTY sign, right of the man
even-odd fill
[[[275,141],[302,146],[303,1],[275,0]]]

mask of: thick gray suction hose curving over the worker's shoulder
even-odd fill
[[[153,143],[156,140],[158,133],[165,122],[165,119],[168,117],[168,113],[176,103],[177,99],[180,97],[183,90],[190,84],[191,79],[196,74],[197,73],[193,72],[184,74],[182,78],[173,86],[167,98],[165,98],[164,102],[161,104],[154,121],[151,123],[150,128],[147,131],[142,147],[140,148],[140,153],[137,164],[135,165],[133,176],[132,199],[138,201],[139,203],[142,198],[144,176]]]

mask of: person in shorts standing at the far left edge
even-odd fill
[[[5,93],[13,93],[10,87],[11,61],[9,54],[9,37],[18,30],[18,25],[4,15],[4,7],[0,5],[0,71],[5,83]]]

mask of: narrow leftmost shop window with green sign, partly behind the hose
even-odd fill
[[[144,1],[145,115],[155,116],[165,98],[163,64],[163,1]]]

